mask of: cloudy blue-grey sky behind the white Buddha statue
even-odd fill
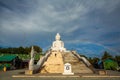
[[[0,0],[0,46],[46,50],[57,32],[67,49],[96,44],[120,53],[120,0]]]

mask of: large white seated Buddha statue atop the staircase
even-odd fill
[[[59,33],[57,33],[55,39],[56,41],[53,42],[51,49],[55,51],[66,51],[66,49],[64,48],[64,43],[60,39]]]

